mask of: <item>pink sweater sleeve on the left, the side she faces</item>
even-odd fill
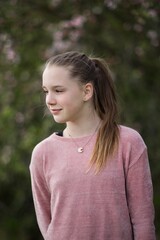
[[[39,145],[32,152],[30,163],[32,195],[35,206],[37,222],[45,239],[51,220],[50,193],[44,177],[43,152]]]

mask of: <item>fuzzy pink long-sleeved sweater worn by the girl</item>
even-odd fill
[[[89,137],[76,138],[79,146]],[[33,199],[45,240],[155,240],[146,146],[120,127],[118,152],[106,168],[86,173],[96,136],[78,153],[73,140],[52,134],[33,150]]]

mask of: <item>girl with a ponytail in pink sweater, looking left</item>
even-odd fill
[[[102,59],[68,52],[43,72],[46,105],[63,132],[33,150],[32,192],[45,240],[155,240],[146,145],[117,124]]]

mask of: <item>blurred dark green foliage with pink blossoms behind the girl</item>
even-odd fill
[[[109,62],[121,122],[149,151],[160,239],[160,3],[147,0],[0,1],[0,239],[40,240],[29,163],[58,126],[45,110],[41,73],[48,57],[81,50]]]

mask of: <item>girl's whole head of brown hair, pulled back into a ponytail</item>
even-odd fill
[[[101,126],[90,159],[90,168],[94,167],[98,173],[116,151],[119,140],[117,99],[109,67],[101,58],[87,57],[74,51],[51,57],[47,65],[69,67],[72,77],[76,77],[82,84],[93,84],[93,104],[101,119]]]

